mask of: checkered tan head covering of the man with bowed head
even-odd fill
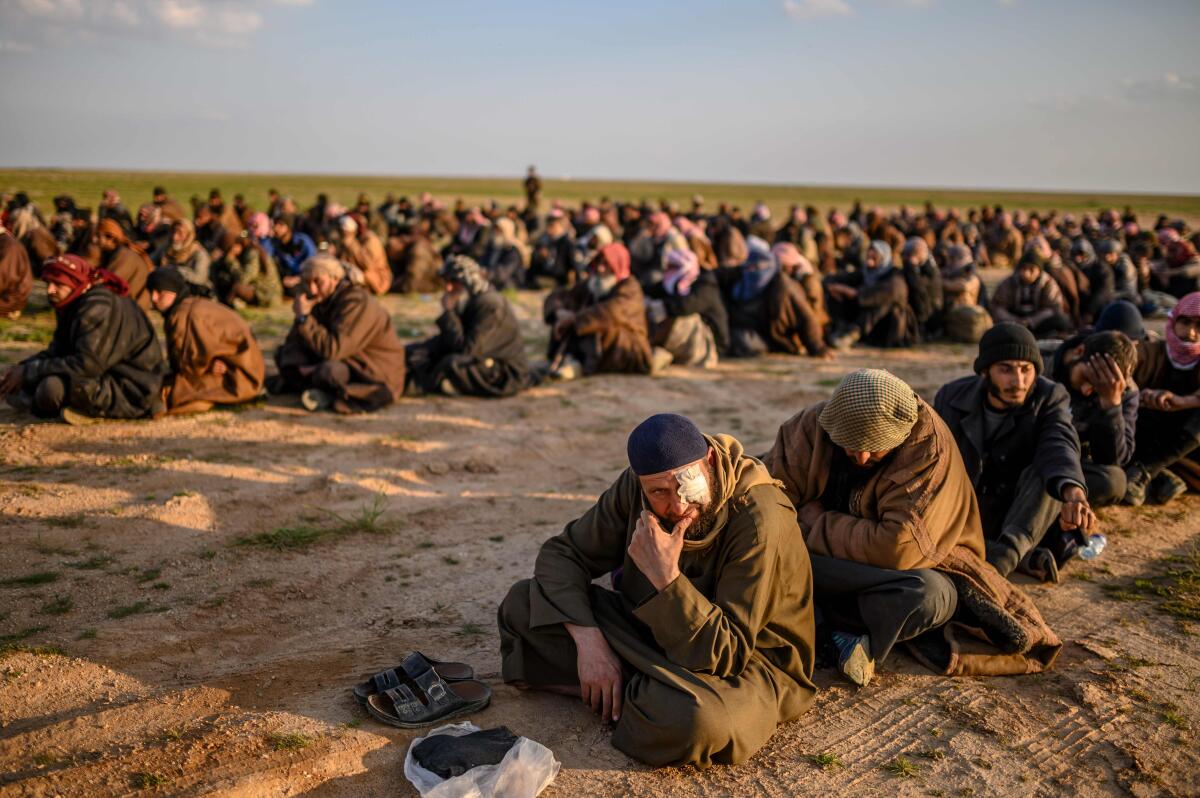
[[[895,374],[862,368],[842,378],[820,421],[842,449],[892,451],[917,424],[917,394]]]

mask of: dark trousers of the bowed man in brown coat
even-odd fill
[[[893,571],[822,554],[809,559],[817,623],[869,634],[876,661],[896,643],[948,622],[959,605],[954,583],[935,570]]]

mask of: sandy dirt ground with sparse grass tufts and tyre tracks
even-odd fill
[[[412,335],[437,313],[386,301]],[[538,301],[518,298],[530,352]],[[287,319],[256,317],[264,348]],[[38,348],[13,337],[4,360]],[[2,409],[0,796],[415,794],[414,734],[349,692],[410,649],[474,664],[496,694],[472,720],[548,745],[552,797],[1200,794],[1200,624],[1172,604],[1196,582],[1194,496],[1103,511],[1099,559],[1026,586],[1066,641],[1052,672],[946,679],[898,654],[856,691],[821,671],[816,706],[743,766],[650,770],[577,701],[500,683],[499,600],[625,467],[644,416],[761,451],[847,371],[931,398],[972,356],[772,356],[355,418],[271,400],[72,428]]]

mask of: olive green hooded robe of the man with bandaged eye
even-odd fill
[[[577,685],[564,623],[598,626],[625,670],[613,745],[649,764],[743,762],[812,703],[812,571],[796,510],[728,436],[716,454],[713,532],[688,541],[655,590],[626,550],[644,504],[626,469],[547,540],[499,611],[503,676]],[[616,571],[616,592],[592,581]]]

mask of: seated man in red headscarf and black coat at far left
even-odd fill
[[[166,364],[125,281],[73,254],[42,264],[42,280],[58,317],[54,338],[0,377],[0,396],[68,424],[161,413]]]

